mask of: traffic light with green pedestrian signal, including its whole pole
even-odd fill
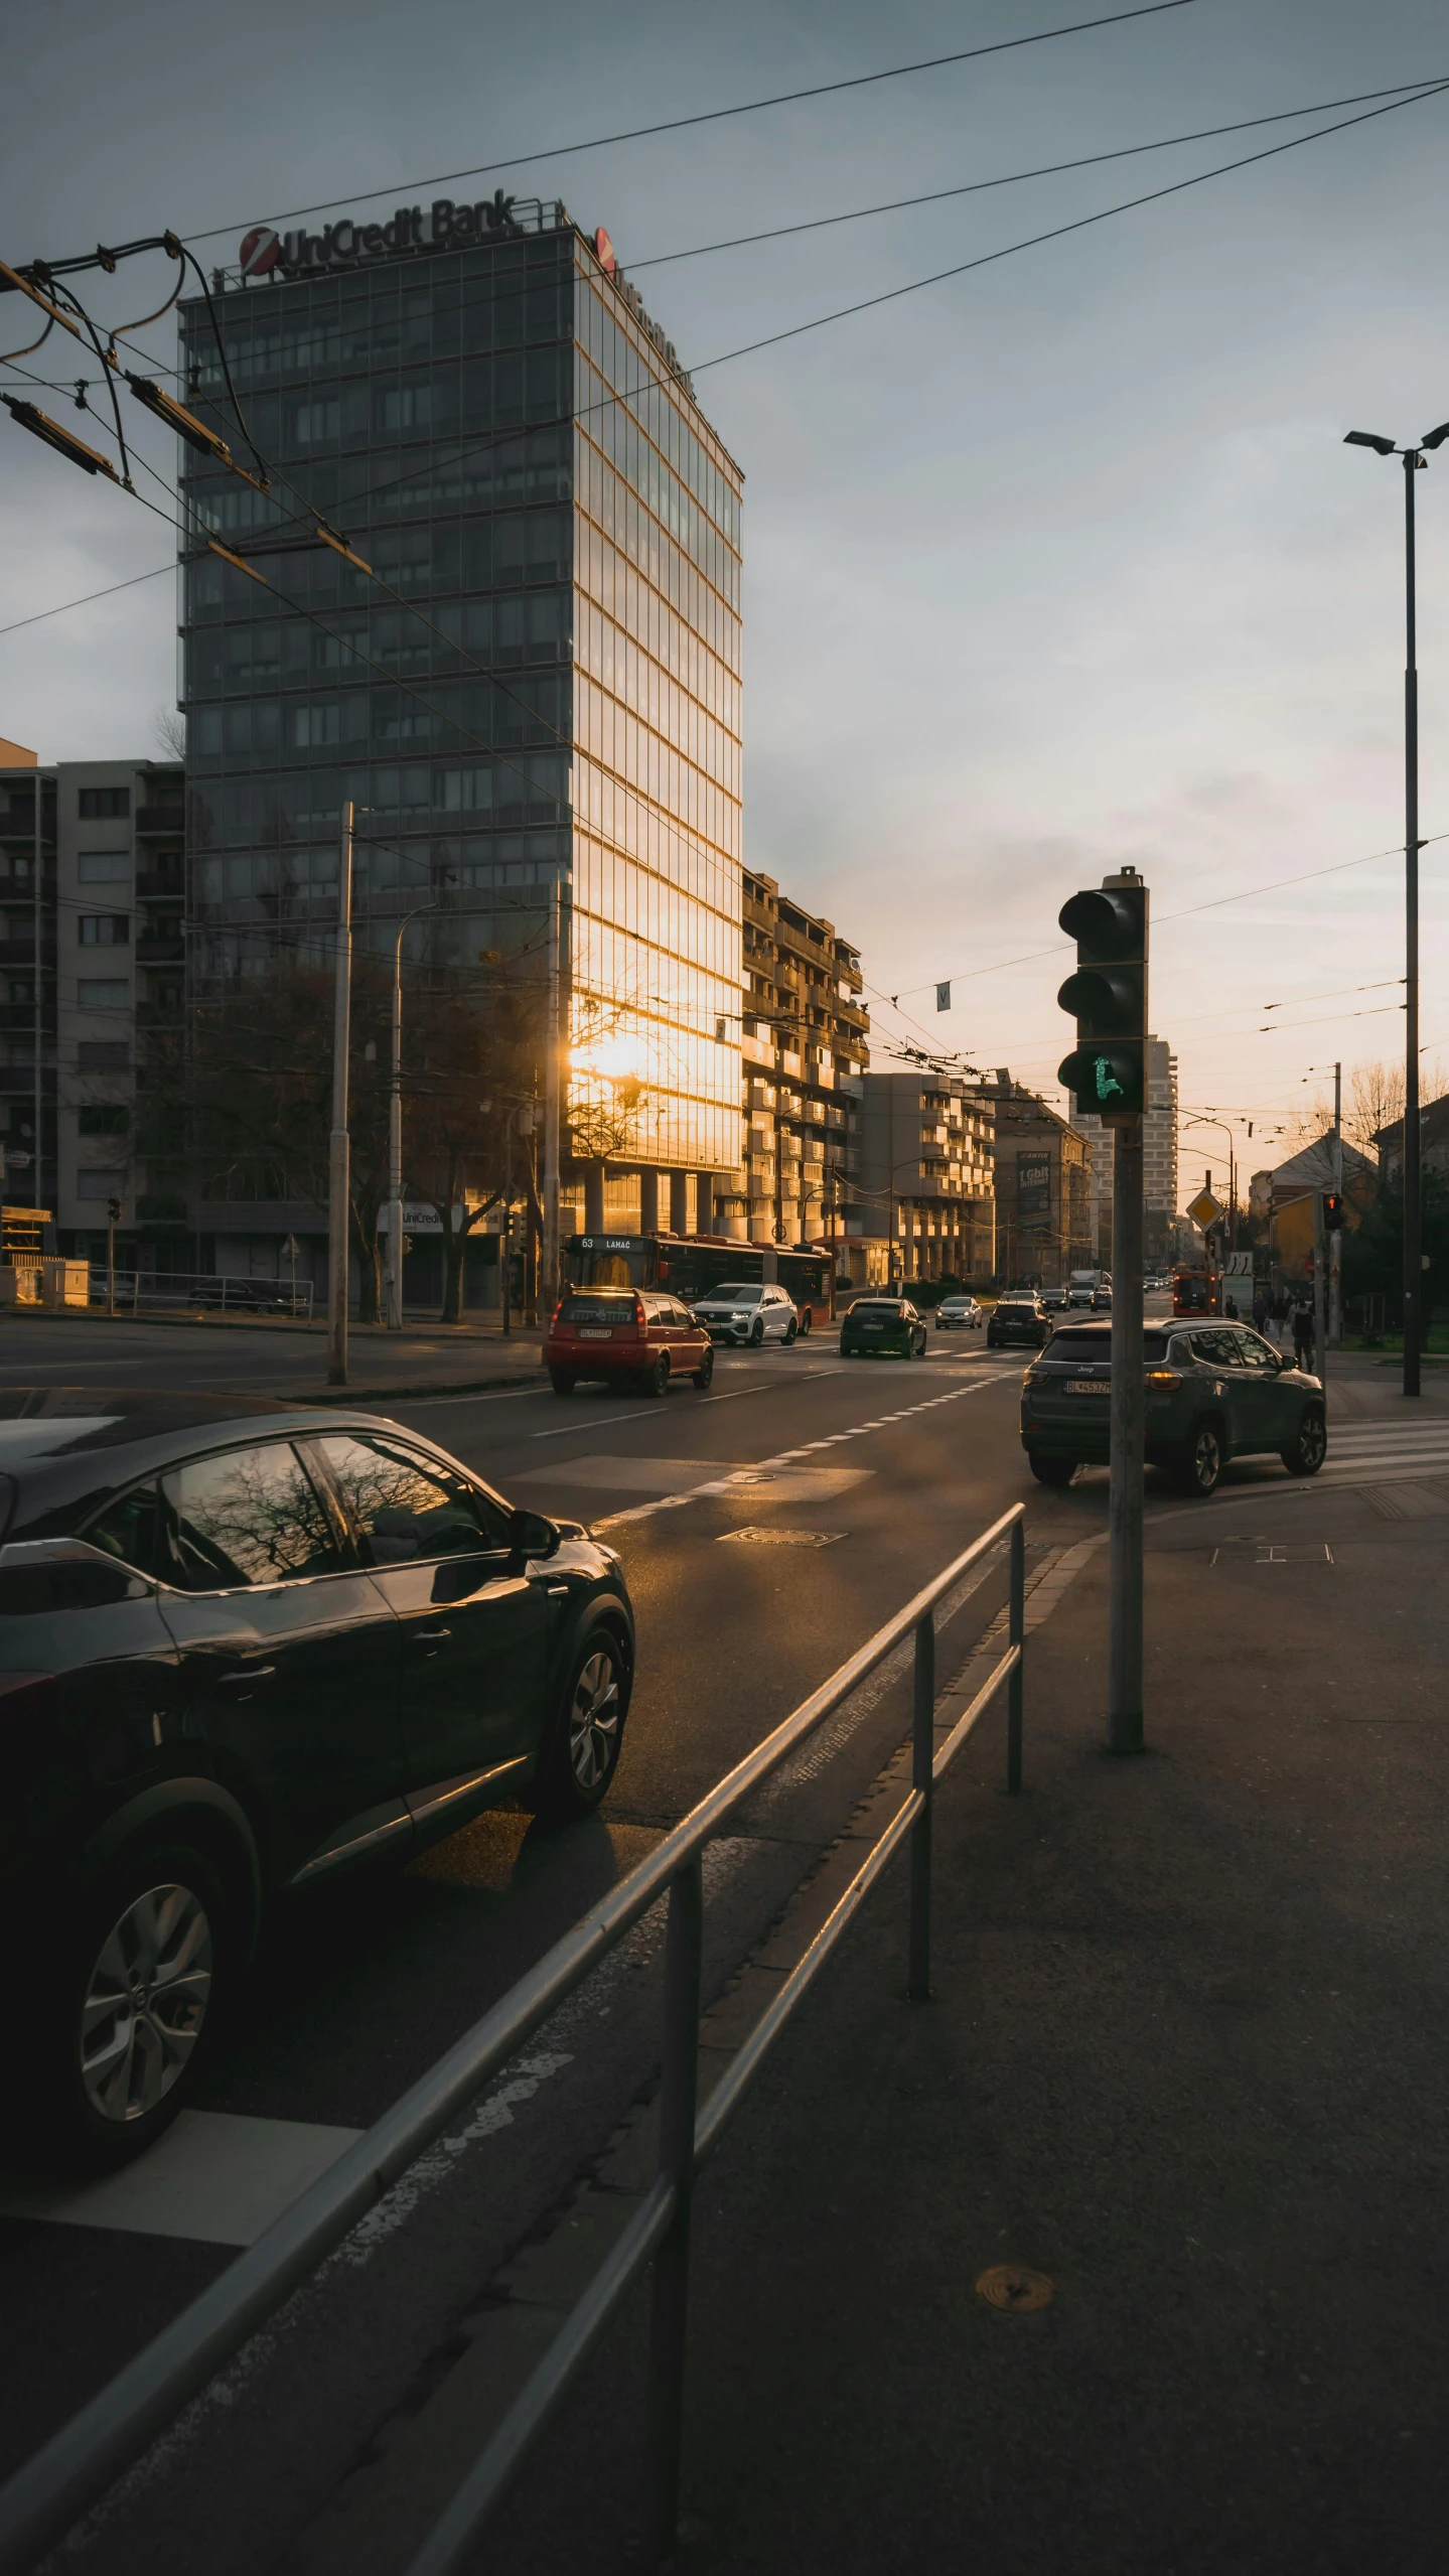
[[[1073,894],[1060,927],[1076,974],[1058,992],[1076,1048],[1058,1082],[1114,1128],[1107,1752],[1143,1752],[1143,1113],[1148,1108],[1148,907],[1135,868]]]

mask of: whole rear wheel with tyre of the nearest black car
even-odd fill
[[[39,2084],[21,2107],[36,2143],[93,2174],[142,2156],[185,2107],[229,1965],[203,1852],[147,1844],[106,1870],[36,1999]]]

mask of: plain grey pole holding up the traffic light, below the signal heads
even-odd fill
[[[1114,1118],[1107,1752],[1143,1752],[1143,1121]]]

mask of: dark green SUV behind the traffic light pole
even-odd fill
[[[1228,1458],[1274,1453],[1315,1476],[1328,1453],[1323,1383],[1246,1324],[1156,1324],[1143,1332],[1145,1455],[1189,1494],[1212,1494]],[[1022,1448],[1040,1484],[1107,1463],[1112,1324],[1063,1324],[1022,1381]]]

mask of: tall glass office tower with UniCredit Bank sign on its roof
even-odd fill
[[[589,1216],[664,1213],[669,1172],[708,1226],[741,1162],[739,466],[564,206],[399,209],[214,283],[273,489],[185,451],[193,997],[329,953],[345,799],[378,951],[430,899],[407,953],[538,940],[558,884]],[[250,466],[201,299],[183,394]]]

